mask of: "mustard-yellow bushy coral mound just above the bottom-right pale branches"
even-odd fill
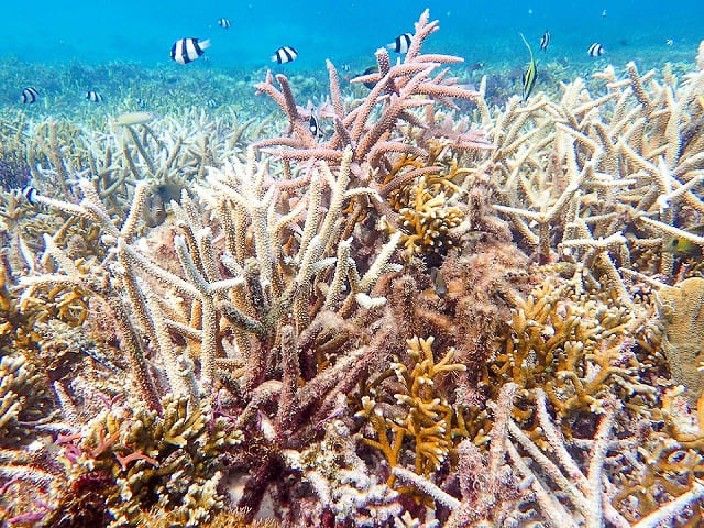
[[[544,387],[561,416],[584,411],[614,392],[632,406],[634,396],[652,397],[639,380],[631,349],[638,320],[627,307],[575,276],[562,285],[544,284],[519,300],[503,351],[488,366],[485,382]]]

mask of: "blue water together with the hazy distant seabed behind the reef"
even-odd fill
[[[105,96],[101,111],[133,109],[136,98],[150,109],[163,111],[176,103],[207,107],[212,100],[240,105],[250,112],[268,111],[264,98],[252,97],[252,85],[263,80],[267,68],[292,76],[300,74],[326,84],[324,61],[346,76],[375,64],[374,51],[405,32],[426,7],[440,31],[424,44],[427,53],[459,55],[466,65],[482,64],[479,72],[454,68],[463,82],[476,85],[488,77],[487,96],[501,105],[520,91],[520,75],[528,53],[519,34],[526,35],[539,64],[536,90],[558,87],[576,76],[588,78],[606,64],[617,70],[635,61],[641,70],[680,63],[676,72],[691,68],[696,47],[704,38],[704,2],[459,2],[418,0],[398,2],[63,2],[38,0],[26,9],[6,2],[0,16],[0,107],[24,107],[33,114],[61,116],[88,110],[86,90]],[[227,18],[231,28],[217,23]],[[551,34],[547,52],[540,37]],[[175,41],[210,38],[204,57],[177,64],[169,57]],[[586,53],[601,43],[602,57]],[[273,64],[271,56],[284,45],[298,51],[295,62]],[[552,66],[550,66],[552,65]],[[219,76],[218,74],[224,74]],[[301,89],[301,79],[295,89]],[[245,86],[243,85],[245,84]],[[31,109],[20,102],[22,89],[40,90],[42,105]],[[177,94],[176,94],[177,92]],[[320,90],[301,95],[320,97]],[[132,101],[132,102],[130,102]],[[82,106],[76,106],[81,103]],[[91,109],[94,113],[98,109]]]

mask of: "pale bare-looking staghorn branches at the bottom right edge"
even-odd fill
[[[404,469],[395,469],[394,473],[431,496],[437,505],[450,509],[448,526],[506,526],[530,521],[536,515],[556,528],[631,526],[610,503],[615,498],[613,481],[623,470],[615,465],[620,460],[613,451],[623,453],[639,441],[637,438],[614,440],[619,405],[613,399],[603,400],[600,406],[603,416],[594,438],[569,442],[552,422],[544,393],[537,389],[538,432],[548,442],[548,448],[542,450],[510,418],[509,409],[517,388],[514,384],[505,385],[495,406],[488,465],[477,466],[482,462],[476,462],[475,448],[470,444],[463,448],[463,473],[459,475],[462,501],[416,473]],[[473,458],[474,463],[471,462]],[[531,465],[526,463],[526,458]],[[704,485],[694,483],[690,492],[634,526],[650,528],[678,516],[688,516],[688,508],[702,496]]]

